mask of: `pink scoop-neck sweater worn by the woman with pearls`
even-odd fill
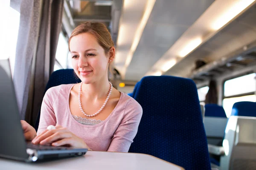
[[[69,96],[73,85],[49,88],[42,102],[37,133],[57,124],[82,138],[92,150],[128,152],[142,116],[140,104],[121,92],[119,102],[107,119],[98,125],[83,125],[70,112]]]

